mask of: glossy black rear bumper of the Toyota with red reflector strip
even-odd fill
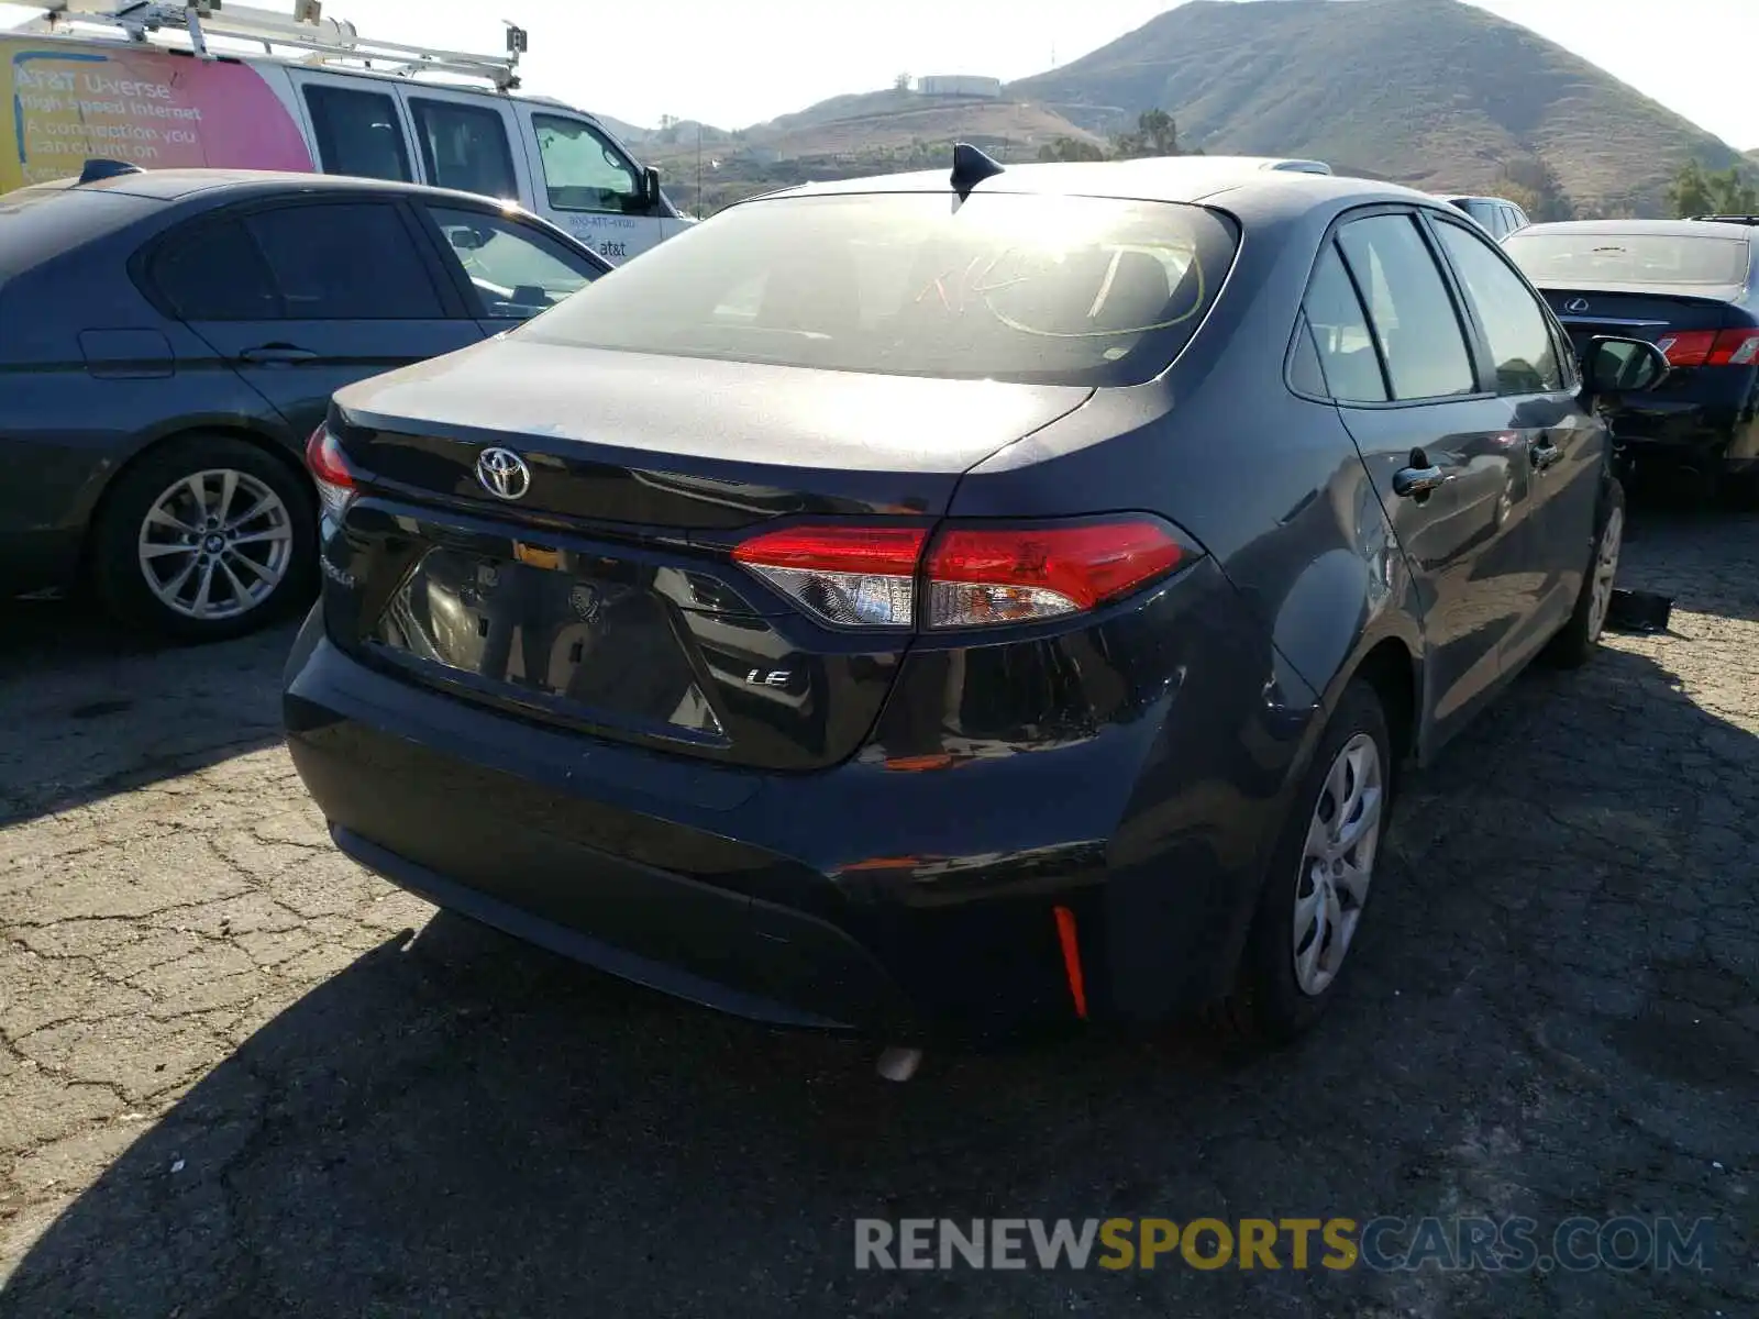
[[[378,672],[320,619],[288,660],[283,714],[343,851],[565,957],[781,1025],[908,1039],[1075,1022],[1057,907],[1077,918],[1089,1018],[1201,1002],[1233,971],[1302,740],[1279,703],[1274,739],[1198,742],[1168,714],[1177,693],[1154,691],[1084,740],[943,772],[735,770]],[[1237,656],[1208,668],[1263,698]],[[943,668],[920,672],[945,689]],[[1215,728],[1221,693],[1187,681],[1189,718]],[[906,675],[894,707],[915,695]]]

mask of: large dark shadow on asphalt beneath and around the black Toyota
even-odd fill
[[[1729,786],[1697,776],[1706,744],[1713,774],[1759,783],[1755,739],[1639,654],[1514,684],[1412,781],[1335,1015],[1258,1060],[1182,1029],[931,1053],[887,1085],[872,1045],[674,1004],[442,915],[276,1015],[121,1148],[35,1240],[0,1312],[1729,1308],[1745,1282],[1685,1272],[1490,1293],[1325,1270],[853,1263],[867,1215],[1360,1221],[1495,1203],[1558,1221],[1655,1210],[1657,1194],[1738,1242],[1741,1206],[1671,1171],[1708,1168],[1708,1150],[1759,1157],[1750,1034],[1690,988],[1740,978],[1717,944],[1662,934],[1680,911],[1752,913],[1752,853],[1701,837],[1703,802]],[[1608,981],[1629,1001],[1597,999]],[[1680,1011],[1697,1025],[1669,1039]],[[1741,1039],[1710,1082],[1685,1068]],[[1660,1191],[1645,1168],[1664,1170]],[[1741,1279],[1750,1263],[1727,1259]]]

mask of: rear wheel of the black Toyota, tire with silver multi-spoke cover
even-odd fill
[[[1349,971],[1349,948],[1367,909],[1381,839],[1391,818],[1393,783],[1386,709],[1379,693],[1356,679],[1344,689],[1314,749],[1312,765],[1291,798],[1288,820],[1270,853],[1235,988],[1212,1013],[1210,1024],[1224,1045],[1247,1050],[1289,1045],[1332,1004]],[[1358,805],[1347,805],[1353,786],[1361,793]],[[1337,865],[1319,869],[1309,848],[1312,830],[1330,842],[1340,797],[1347,805],[1346,823],[1358,827],[1349,849],[1339,856],[1342,872]],[[1319,874],[1323,881],[1316,881]],[[1360,883],[1349,883],[1342,874],[1356,874]],[[1326,893],[1335,893],[1335,904],[1325,900]],[[1298,911],[1312,915],[1302,920]],[[1328,943],[1319,925],[1309,923],[1316,918],[1330,920],[1342,943]],[[1296,937],[1298,923],[1305,939]],[[1309,966],[1319,974],[1303,974]]]

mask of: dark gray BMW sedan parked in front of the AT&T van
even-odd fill
[[[0,197],[0,596],[90,584],[181,640],[303,607],[331,394],[609,269],[517,208],[375,179],[95,160]]]

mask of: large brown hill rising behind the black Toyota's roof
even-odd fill
[[[1161,107],[1210,153],[1317,157],[1434,192],[1513,178],[1587,215],[1660,215],[1683,160],[1741,160],[1602,69],[1462,0],[1191,0],[1008,95],[1092,132]]]

